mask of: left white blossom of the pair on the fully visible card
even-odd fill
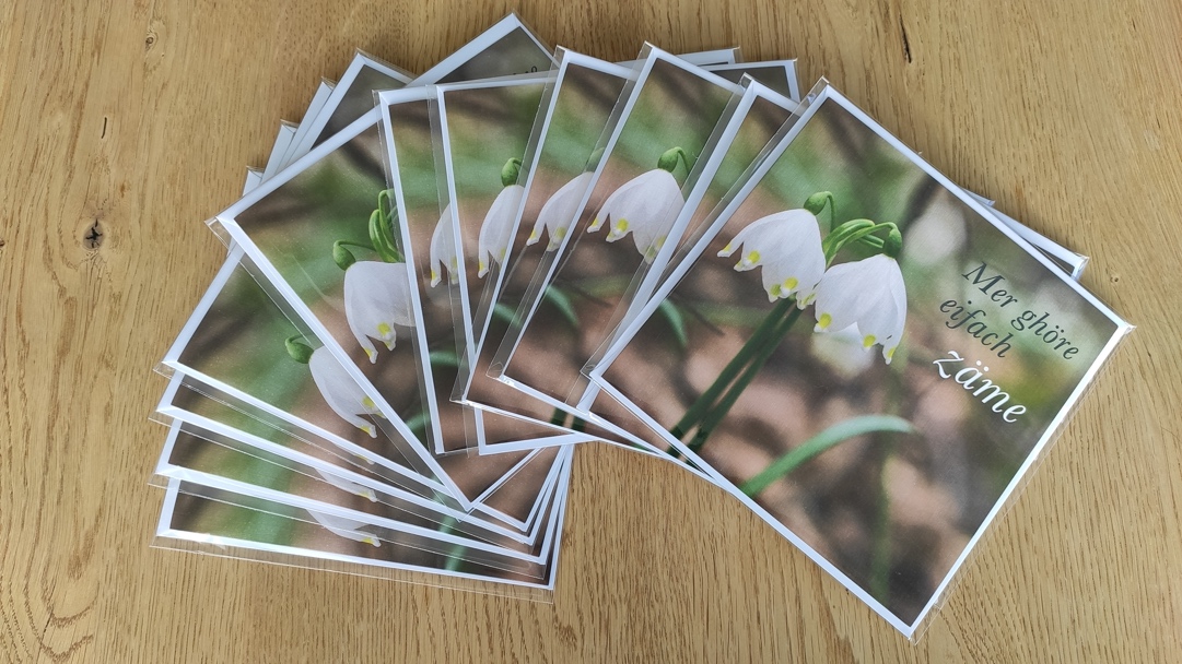
[[[762,266],[768,300],[795,295],[800,308],[812,301],[817,282],[825,273],[820,228],[812,213],[785,210],[755,220],[736,233],[719,255],[730,256],[740,247],[735,269],[746,272]]]

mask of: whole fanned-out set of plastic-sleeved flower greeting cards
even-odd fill
[[[792,60],[515,17],[417,77],[358,54],[209,226],[157,542],[526,598],[606,442],[914,636],[1130,330]]]

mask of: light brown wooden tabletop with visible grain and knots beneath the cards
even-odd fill
[[[422,71],[517,8],[605,58],[799,57],[1092,256],[1139,327],[909,644],[722,490],[577,455],[553,604],[150,548],[152,372],[277,123],[355,47]],[[0,660],[1182,659],[1175,0],[0,4]]]

